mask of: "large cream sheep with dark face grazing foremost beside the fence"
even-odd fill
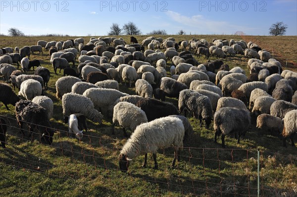
[[[145,154],[143,167],[146,167],[148,153],[152,153],[154,169],[158,169],[157,150],[171,145],[175,147],[174,159],[172,161],[172,166],[174,166],[176,159],[180,160],[184,135],[185,128],[183,122],[175,117],[158,118],[137,126],[119,155],[120,170],[126,172],[130,161],[141,154]]]

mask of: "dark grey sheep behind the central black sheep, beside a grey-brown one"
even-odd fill
[[[167,97],[178,98],[180,91],[188,89],[188,86],[184,83],[178,82],[175,79],[162,78],[160,89],[165,92]]]

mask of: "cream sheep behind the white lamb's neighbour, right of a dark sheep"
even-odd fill
[[[56,97],[61,99],[64,94],[71,92],[72,86],[81,79],[72,76],[61,77],[56,80]]]

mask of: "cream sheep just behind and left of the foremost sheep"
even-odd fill
[[[123,127],[124,135],[127,137],[125,128],[130,128],[133,132],[138,125],[148,122],[146,113],[132,103],[119,102],[114,106],[113,111],[112,135],[114,135],[116,123]]]

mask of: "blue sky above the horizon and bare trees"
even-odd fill
[[[0,33],[11,27],[25,35],[104,36],[112,23],[134,22],[142,34],[267,36],[278,21],[297,36],[297,0],[0,0]]]

